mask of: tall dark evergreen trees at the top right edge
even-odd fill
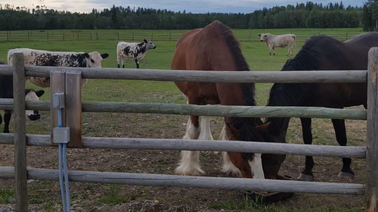
[[[367,0],[363,10],[364,31],[378,31],[378,0]]]

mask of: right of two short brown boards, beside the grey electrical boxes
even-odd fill
[[[81,71],[66,71],[66,127],[70,128],[67,147],[82,147],[81,142]]]

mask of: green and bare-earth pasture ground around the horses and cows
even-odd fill
[[[82,30],[85,32],[86,30]],[[100,30],[96,30],[100,31]],[[361,32],[361,29],[275,29],[275,30],[235,30],[235,32]],[[109,32],[109,31],[107,31]],[[135,31],[137,32],[137,31]],[[116,45],[114,40],[92,41],[20,41],[0,42],[0,60],[6,61],[8,49],[32,48],[48,51],[74,51],[108,53],[103,61],[103,68],[116,68]],[[140,67],[145,69],[170,69],[175,51],[175,41],[156,41],[156,49],[147,52]],[[303,42],[297,42],[294,55]],[[287,48],[276,49],[275,56],[269,56],[265,43],[242,42],[243,54],[251,71],[279,71],[288,58]],[[126,68],[135,68],[133,60],[127,60]],[[258,105],[265,105],[272,84],[256,84]],[[39,89],[27,84],[28,88]],[[49,100],[49,89],[42,100]],[[82,90],[83,101],[127,101],[156,103],[186,103],[181,92],[173,82],[137,81],[137,80],[88,80]],[[13,119],[12,119],[13,120]],[[185,132],[187,117],[161,114],[114,114],[84,113],[83,135],[96,137],[136,137],[136,138],[181,138]],[[364,146],[366,141],[365,121],[346,121],[348,145]],[[222,129],[222,118],[212,119],[214,139]],[[3,126],[1,126],[3,127]],[[327,119],[313,119],[313,144],[338,145]],[[11,121],[11,132],[13,122]],[[42,112],[38,121],[27,121],[27,133],[49,134],[49,114]],[[302,133],[298,118],[293,118],[287,133],[289,143],[302,143]],[[57,150],[47,147],[28,147],[28,166],[56,169]],[[178,161],[178,151],[137,151],[137,150],[68,150],[68,164],[71,170],[143,172],[173,174]],[[12,166],[13,146],[0,145],[0,166]],[[146,158],[146,162],[140,162]],[[353,160],[352,169],[356,177],[341,180],[336,177],[342,163],[339,158],[315,158],[315,181],[364,183],[364,160]],[[220,156],[203,156],[201,165],[205,176],[223,176],[220,172]],[[304,157],[288,155],[281,167],[281,174],[297,177],[304,167]],[[202,190],[181,188],[158,188],[118,186],[106,184],[71,183],[72,201],[81,204],[79,211],[313,211],[313,212],[355,212],[361,211],[363,197],[348,195],[296,194],[282,203],[262,205],[246,200],[239,192],[225,190]],[[12,180],[0,180],[0,207],[7,204],[14,196]],[[60,204],[59,183],[37,181],[29,184],[29,202],[36,211],[57,211]],[[167,206],[164,210],[136,206],[135,201],[158,200]],[[135,203],[135,204],[134,204]],[[132,206],[133,205],[133,206]],[[134,207],[135,205],[135,207]],[[161,208],[163,208],[161,206]],[[77,211],[77,210],[75,210]]]

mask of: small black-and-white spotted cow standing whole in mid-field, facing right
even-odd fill
[[[156,46],[150,41],[144,39],[142,43],[126,43],[119,42],[117,45],[117,64],[122,63],[122,68],[125,68],[125,59],[134,59],[136,68],[139,68],[139,61],[141,61],[149,49],[156,49]]]

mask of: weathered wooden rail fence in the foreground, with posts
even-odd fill
[[[233,190],[264,190],[319,194],[365,195],[366,211],[377,212],[378,198],[378,48],[369,51],[368,71],[290,71],[290,72],[209,72],[147,69],[96,69],[23,66],[23,55],[14,54],[14,65],[0,66],[0,74],[13,75],[14,100],[0,99],[0,109],[14,110],[14,134],[0,134],[0,144],[15,144],[15,167],[0,167],[0,178],[14,178],[16,209],[28,211],[27,179],[59,180],[54,169],[26,168],[26,146],[51,146],[50,135],[25,134],[25,109],[50,110],[49,101],[26,101],[25,76],[50,77],[50,72],[76,71],[82,78],[133,79],[209,82],[286,82],[286,83],[366,83],[367,111],[332,108],[198,106],[158,103],[82,102],[84,112],[161,113],[234,117],[321,117],[367,120],[367,146],[321,146],[305,144],[259,143],[152,138],[82,137],[83,148],[167,149],[190,151],[235,151],[270,154],[313,155],[323,157],[366,158],[366,184],[300,182],[264,179],[190,177],[159,174],[69,171],[69,180],[86,183],[114,183],[139,186],[198,187]],[[54,83],[53,81],[51,83]],[[66,90],[67,91],[67,90]],[[17,93],[18,92],[18,93]],[[22,95],[21,95],[22,94]],[[67,98],[67,97],[66,97]],[[283,110],[284,109],[284,110]],[[80,136],[80,135],[79,135]]]

